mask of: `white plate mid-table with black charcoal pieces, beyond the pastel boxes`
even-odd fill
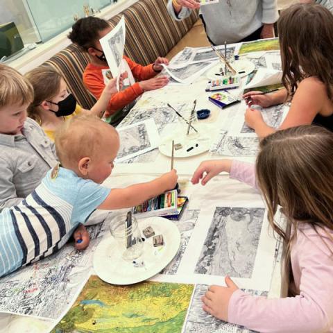
[[[187,126],[186,128],[185,126],[178,127],[176,130],[171,132],[172,136],[169,135],[162,138],[162,142],[160,143],[160,146],[158,146],[160,153],[171,157],[172,140],[175,142],[175,151],[173,156],[176,158],[191,157],[205,153],[205,151],[209,151],[212,144],[210,126],[207,126],[204,123],[199,123],[199,121],[194,121],[192,124],[194,128],[198,130],[198,133],[191,129],[189,135],[187,135]],[[176,149],[177,144],[180,144],[181,148]]]

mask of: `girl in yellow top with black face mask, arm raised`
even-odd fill
[[[67,91],[65,80],[55,69],[37,67],[29,71],[26,78],[34,90],[33,103],[28,107],[28,117],[37,121],[52,141],[58,126],[77,114],[89,112],[102,117],[110,98],[117,92],[116,79],[112,79],[103,90],[101,99],[88,111],[76,103],[75,97]],[[121,84],[122,79],[123,76]]]

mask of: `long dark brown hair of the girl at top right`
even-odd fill
[[[333,15],[318,4],[296,4],[284,10],[278,21],[282,58],[282,83],[289,96],[298,83],[315,76],[333,99]]]

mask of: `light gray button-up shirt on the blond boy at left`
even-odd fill
[[[0,211],[31,194],[58,162],[54,144],[35,121],[28,118],[22,132],[0,134]]]

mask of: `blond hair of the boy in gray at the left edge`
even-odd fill
[[[16,69],[0,64],[0,108],[33,101],[33,87]]]

